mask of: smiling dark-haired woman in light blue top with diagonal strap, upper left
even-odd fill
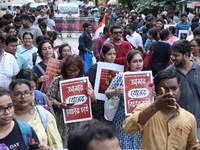
[[[37,52],[37,48],[33,46],[33,34],[31,32],[25,32],[22,36],[23,44],[17,46],[16,52],[24,56],[26,61],[28,62],[29,57]]]

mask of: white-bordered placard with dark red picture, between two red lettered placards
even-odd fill
[[[124,66],[122,65],[114,63],[98,62],[95,87],[94,87],[96,99],[103,101],[106,100],[105,91],[109,87],[113,78],[118,73],[121,73],[123,71],[124,71]]]

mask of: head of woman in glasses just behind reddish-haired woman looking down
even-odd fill
[[[62,60],[62,61],[65,60],[65,58],[67,57],[67,55],[72,54],[71,47],[67,43],[64,43],[64,44],[60,45],[58,51],[59,51],[59,54],[60,54],[60,56],[58,57],[58,59]]]

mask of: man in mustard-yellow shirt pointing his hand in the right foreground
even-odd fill
[[[124,131],[141,132],[140,149],[183,150],[199,148],[194,116],[181,108],[179,77],[173,70],[162,70],[154,78],[154,102],[136,107],[124,124]]]

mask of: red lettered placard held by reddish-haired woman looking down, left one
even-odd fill
[[[70,109],[62,109],[64,123],[80,122],[92,119],[90,97],[87,94],[88,77],[60,81],[61,101],[73,104]]]

